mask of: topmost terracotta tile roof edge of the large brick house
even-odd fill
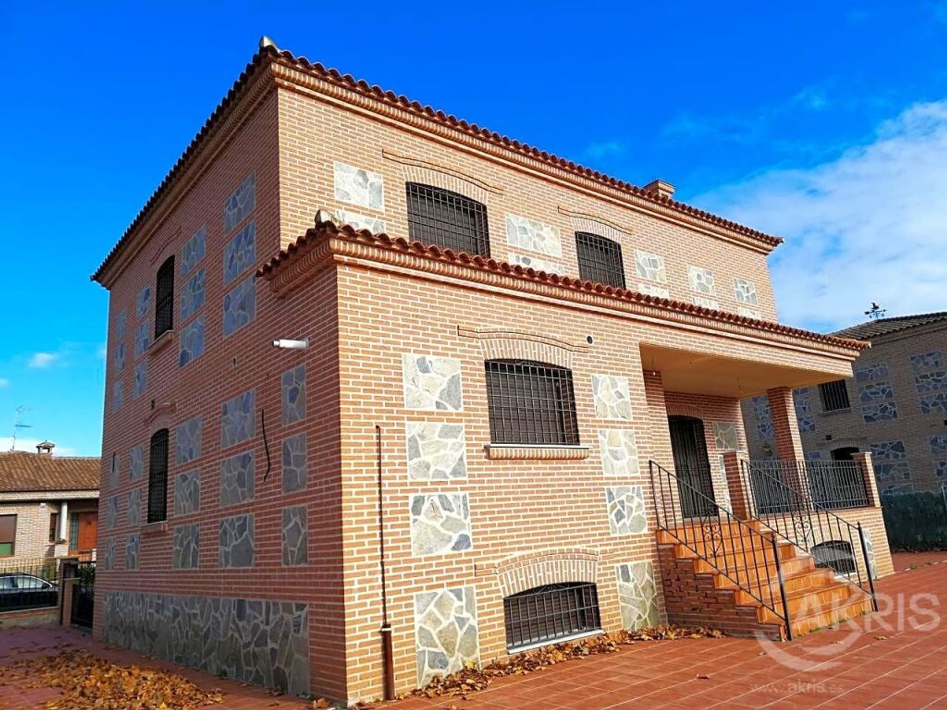
[[[380,86],[369,85],[365,80],[356,80],[348,74],[342,75],[338,70],[327,69],[319,62],[310,62],[305,57],[295,57],[292,52],[279,49],[274,44],[264,44],[262,41],[260,44],[261,46],[259,51],[253,56],[253,59],[251,59],[243,69],[240,77],[234,82],[226,96],[224,96],[221,102],[217,105],[217,108],[215,108],[213,113],[211,113],[211,115],[207,118],[204,126],[201,127],[201,130],[191,140],[188,148],[181,154],[181,157],[178,158],[177,162],[170,169],[170,172],[165,176],[164,180],[161,181],[161,184],[152,193],[152,196],[148,199],[148,202],[145,203],[145,206],[142,207],[140,212],[138,212],[137,216],[134,218],[134,221],[125,230],[125,233],[122,235],[121,239],[118,240],[116,245],[99,265],[96,273],[91,276],[93,280],[98,280],[99,275],[101,275],[102,271],[106,268],[106,266],[108,266],[111,260],[116,257],[118,250],[121,249],[124,242],[128,240],[134,233],[134,230],[149,217],[152,210],[168,193],[171,186],[173,186],[175,181],[180,178],[184,170],[188,168],[188,165],[193,160],[198,149],[201,147],[201,144],[211,133],[215,131],[215,129],[222,123],[224,115],[226,115],[237,103],[238,98],[240,98],[241,90],[256,75],[259,68],[268,62],[279,62],[293,66],[299,70],[309,73],[319,80],[327,81],[333,85],[348,89],[349,91],[360,94],[367,98],[373,98],[383,102],[386,105],[392,106],[410,114],[422,115],[432,121],[436,121],[441,125],[455,129],[460,133],[476,135],[485,141],[502,146],[509,151],[515,151],[524,155],[528,155],[535,160],[541,161],[555,168],[566,170],[588,180],[594,180],[601,185],[631,193],[638,198],[650,201],[654,204],[660,204],[664,207],[673,209],[674,211],[686,214],[689,217],[696,218],[704,222],[723,227],[725,229],[733,230],[742,235],[768,244],[771,247],[776,246],[782,242],[782,238],[780,237],[774,237],[772,235],[760,232],[757,229],[747,227],[743,224],[731,222],[724,219],[723,217],[711,214],[705,210],[693,207],[689,204],[672,200],[670,197],[653,194],[642,187],[634,186],[631,183],[610,177],[604,173],[599,172],[598,170],[584,168],[577,163],[574,163],[570,160],[565,160],[564,158],[561,158],[553,153],[540,151],[538,148],[533,148],[526,143],[521,143],[518,140],[509,138],[509,136],[492,132],[489,129],[476,125],[475,123],[468,123],[461,118],[457,118],[455,115],[445,114],[443,111],[438,111],[438,109],[435,109],[431,106],[422,105],[418,101],[412,101],[410,98],[407,98],[403,95],[399,96],[394,92],[385,91]]]

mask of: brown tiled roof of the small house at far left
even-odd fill
[[[0,493],[40,490],[98,490],[96,456],[0,453]]]

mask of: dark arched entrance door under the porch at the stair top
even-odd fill
[[[716,515],[704,422],[695,417],[668,417],[668,425],[684,517]]]

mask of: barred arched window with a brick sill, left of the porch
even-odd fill
[[[531,360],[488,360],[494,444],[578,444],[572,370]]]

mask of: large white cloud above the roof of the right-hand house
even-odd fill
[[[812,169],[774,169],[693,200],[786,238],[771,268],[781,320],[842,328],[947,310],[947,100],[915,104]]]

